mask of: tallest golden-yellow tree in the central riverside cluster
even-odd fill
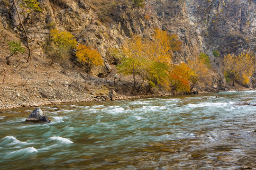
[[[181,49],[181,42],[177,35],[170,35],[166,31],[155,28],[152,40],[144,40],[144,51],[153,67],[147,71],[149,90],[156,85],[169,88],[168,75],[169,68],[172,66],[174,51]]]

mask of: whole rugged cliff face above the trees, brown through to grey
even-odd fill
[[[1,29],[1,60],[8,55],[7,42],[18,40],[22,36],[20,29],[11,29],[17,25],[17,15],[6,8],[11,0],[0,2]],[[244,51],[248,44],[247,18],[253,17],[255,2],[251,12],[247,11],[247,0],[234,4],[225,11],[218,21],[214,9],[210,14],[209,28],[206,29],[204,15],[197,12],[199,1],[187,0],[146,0],[143,9],[130,9],[128,2],[104,0],[38,0],[41,13],[32,13],[23,17],[28,36],[35,40],[33,49],[41,50],[35,53],[41,58],[47,58],[44,46],[49,38],[51,28],[67,30],[75,35],[77,41],[95,46],[104,59],[104,66],[94,68],[93,75],[105,77],[113,69],[118,60],[111,55],[111,48],[119,48],[132,34],[143,34],[150,37],[155,27],[177,34],[182,42],[182,50],[174,54],[174,62],[180,63],[195,57],[200,51],[205,52],[213,60],[212,51],[218,50],[221,56],[233,52]],[[229,3],[229,2],[227,2]],[[191,16],[191,17],[188,17]],[[196,25],[195,25],[196,24]],[[255,20],[252,21],[255,24]],[[252,29],[252,28],[250,28]],[[252,30],[250,30],[252,31]],[[221,59],[218,60],[221,62]],[[213,67],[219,66],[212,61]],[[110,66],[111,65],[111,66]],[[215,75],[215,82],[225,84],[223,77]],[[221,84],[220,83],[220,84]],[[219,84],[218,84],[219,85]],[[218,86],[215,83],[215,86]]]

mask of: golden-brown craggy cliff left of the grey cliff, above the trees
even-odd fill
[[[35,40],[32,46],[43,49],[51,28],[67,30],[76,36],[79,42],[95,46],[104,59],[104,67],[94,69],[95,75],[104,75],[110,71],[109,64],[117,61],[110,54],[111,48],[119,48],[132,34],[151,36],[155,27],[162,28],[171,34],[178,34],[183,42],[183,50],[176,53],[174,60],[186,61],[192,57],[194,50],[201,46],[197,34],[187,16],[184,2],[178,0],[148,0],[144,9],[128,9],[126,4],[112,5],[101,0],[38,0],[42,12],[25,19],[27,33]],[[9,18],[6,9],[7,1],[1,1],[1,21],[4,30],[18,23],[15,11]],[[12,23],[10,23],[12,22]],[[21,30],[15,30],[20,36]],[[43,52],[39,55],[46,57]]]

